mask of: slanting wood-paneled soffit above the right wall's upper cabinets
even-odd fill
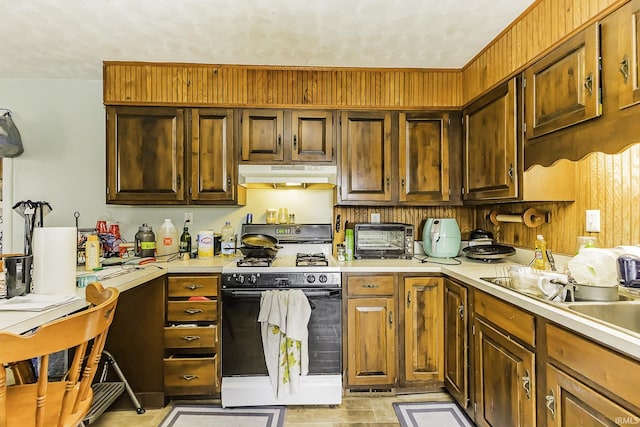
[[[538,0],[463,69],[468,103],[628,0]]]

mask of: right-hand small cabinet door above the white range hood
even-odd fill
[[[331,111],[291,112],[291,160],[333,162],[333,113]]]

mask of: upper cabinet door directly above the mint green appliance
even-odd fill
[[[449,200],[449,115],[400,113],[401,202]]]

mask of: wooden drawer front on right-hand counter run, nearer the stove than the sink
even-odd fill
[[[536,344],[535,317],[519,308],[482,292],[474,294],[474,311],[507,335],[514,336],[531,347]]]

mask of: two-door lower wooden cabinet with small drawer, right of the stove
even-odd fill
[[[354,273],[343,283],[346,387],[442,385],[443,279]]]

